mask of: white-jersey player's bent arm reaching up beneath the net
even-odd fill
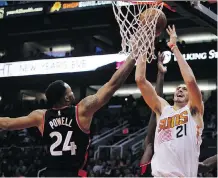
[[[146,79],[146,62],[143,62],[142,58],[137,60],[135,80],[147,105],[153,112],[161,115],[167,102],[157,95],[152,84]]]

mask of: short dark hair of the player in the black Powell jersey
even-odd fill
[[[62,80],[56,80],[52,82],[45,91],[49,105],[54,105],[60,102],[61,98],[64,97],[66,92],[65,83]]]

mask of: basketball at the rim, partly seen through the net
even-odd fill
[[[156,24],[156,37],[158,37],[161,34],[161,32],[165,29],[167,25],[167,18],[165,14],[159,9],[149,8],[143,11],[140,15],[140,21],[142,21],[142,23],[145,24],[146,21],[153,21],[157,13],[160,13],[160,15]]]

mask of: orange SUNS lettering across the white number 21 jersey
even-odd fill
[[[188,111],[183,111],[175,114],[172,117],[167,117],[160,120],[158,132],[165,129],[170,129],[188,122]]]

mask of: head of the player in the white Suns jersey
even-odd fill
[[[185,84],[180,84],[174,93],[174,102],[178,104],[187,104],[188,97],[188,89]]]

